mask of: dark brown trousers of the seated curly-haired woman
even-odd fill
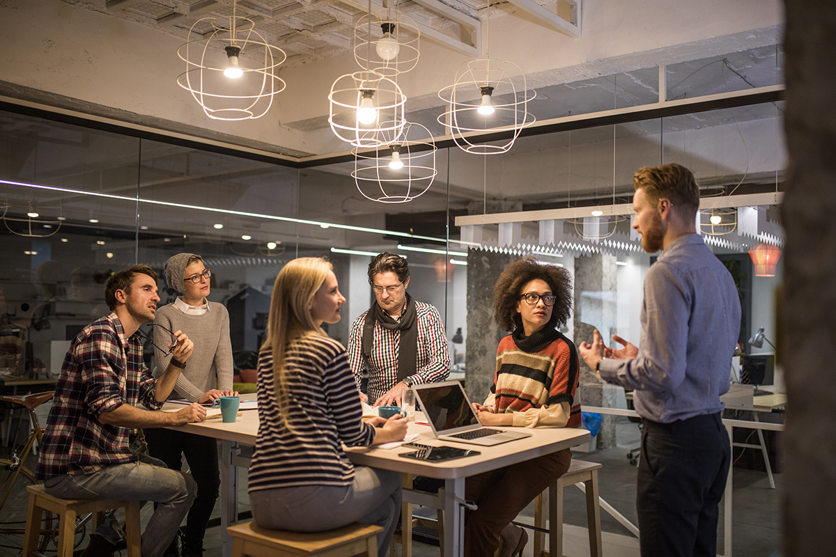
[[[572,453],[567,448],[466,479],[465,497],[476,501],[479,509],[465,515],[465,557],[495,554],[502,529],[566,473],[571,463]]]

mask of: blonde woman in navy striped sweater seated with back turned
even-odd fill
[[[249,472],[252,518],[267,529],[321,532],[377,524],[386,554],[400,514],[400,473],[355,467],[347,446],[399,441],[407,421],[361,421],[344,347],[321,325],[345,298],[328,261],[302,257],[278,273],[258,354],[258,435]]]

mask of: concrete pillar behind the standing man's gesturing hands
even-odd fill
[[[609,338],[618,326],[618,291],[616,281],[615,256],[594,254],[575,258],[574,269],[574,341],[592,342],[595,329],[604,336],[609,345]],[[580,362],[581,376],[579,384],[580,400],[589,406],[614,407],[617,388],[599,380]],[[615,446],[615,417],[604,416],[601,424],[598,447]]]

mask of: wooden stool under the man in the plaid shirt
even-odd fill
[[[44,510],[58,514],[59,517],[58,557],[72,557],[75,520],[79,514],[95,513],[94,524],[100,524],[106,511],[120,507],[125,507],[125,543],[128,544],[128,557],[141,557],[139,501],[59,499],[48,494],[42,484],[28,485],[26,490],[29,492],[26,539],[23,541],[23,555],[26,557],[38,548]]]

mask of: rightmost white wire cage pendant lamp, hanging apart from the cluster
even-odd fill
[[[462,65],[456,83],[439,91],[447,104],[438,117],[460,149],[472,154],[502,154],[512,148],[523,128],[534,123],[528,112],[537,92],[528,89],[523,70],[513,62],[482,58]],[[501,134],[492,143],[472,136]]]

